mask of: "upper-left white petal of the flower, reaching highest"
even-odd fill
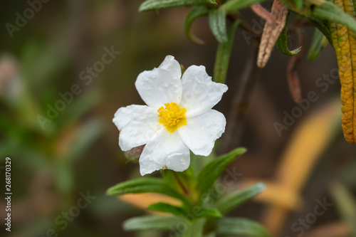
[[[182,70],[173,56],[167,56],[158,68],[145,70],[138,75],[136,89],[147,105],[159,109],[164,103],[182,98]]]

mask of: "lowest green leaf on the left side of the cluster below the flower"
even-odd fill
[[[177,216],[141,216],[124,221],[122,226],[125,231],[170,231],[182,221],[182,218]]]

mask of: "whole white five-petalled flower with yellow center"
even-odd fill
[[[208,156],[225,130],[224,115],[211,108],[227,86],[214,83],[202,65],[192,65],[181,75],[173,56],[140,73],[135,86],[148,106],[120,107],[112,120],[120,130],[122,151],[146,144],[140,157],[142,176],[159,169],[188,169],[189,149]]]

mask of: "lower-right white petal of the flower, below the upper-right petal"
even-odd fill
[[[226,119],[221,112],[209,110],[187,119],[187,125],[179,127],[178,133],[194,154],[208,156],[215,140],[224,133],[225,125]]]

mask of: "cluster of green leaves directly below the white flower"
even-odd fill
[[[164,194],[181,201],[181,206],[164,202],[151,204],[147,209],[171,214],[170,216],[143,216],[125,221],[127,231],[161,230],[172,231],[176,236],[196,236],[210,233],[218,236],[246,234],[268,236],[267,231],[255,221],[244,218],[224,218],[224,214],[253,199],[265,189],[263,183],[254,184],[230,194],[216,191],[217,180],[226,167],[246,149],[237,148],[228,154],[216,157],[202,169],[192,166],[186,172],[162,171],[162,178],[142,177],[112,186],[108,195],[139,194],[153,192]],[[192,157],[197,159],[197,157]],[[226,185],[220,183],[220,185]],[[219,194],[219,195],[216,195]],[[180,231],[177,224],[184,223],[187,230]],[[235,227],[234,227],[235,226]],[[227,228],[228,227],[228,228]],[[227,228],[227,229],[226,229]]]

